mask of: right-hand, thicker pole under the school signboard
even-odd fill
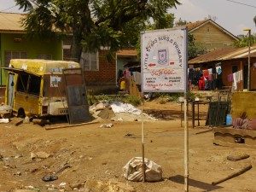
[[[184,92],[184,191],[189,192],[189,129],[187,92]],[[193,127],[194,128],[194,127]]]

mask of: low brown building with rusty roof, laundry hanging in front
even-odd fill
[[[250,90],[256,90],[256,79],[253,79],[256,75],[256,46],[251,47],[250,63]],[[216,67],[218,67],[219,73],[216,72]],[[189,68],[200,68],[203,76],[212,71],[218,73],[218,80],[221,81],[221,86],[218,87],[219,89],[230,87],[233,90],[245,90],[247,89],[248,78],[248,48],[213,50],[205,55],[200,55],[189,60]],[[239,73],[239,78],[235,73]],[[198,80],[196,81],[196,79],[195,84],[198,85]]]

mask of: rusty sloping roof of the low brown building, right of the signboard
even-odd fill
[[[250,56],[256,57],[256,45],[251,47]],[[200,63],[207,63],[211,61],[235,60],[235,59],[247,58],[247,57],[248,57],[247,47],[218,49],[218,50],[213,50],[207,54],[195,57],[192,60],[189,60],[189,64],[200,64]]]

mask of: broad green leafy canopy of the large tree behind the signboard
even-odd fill
[[[166,25],[166,12],[178,0],[15,0],[28,13],[23,25],[29,35],[73,34],[72,56],[100,46],[117,50],[135,45],[144,22]],[[53,32],[53,29],[55,32]],[[135,35],[136,34],[136,35]]]

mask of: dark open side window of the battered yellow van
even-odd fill
[[[28,74],[20,73],[17,80],[17,90],[20,92],[39,96],[40,94],[41,78]]]

